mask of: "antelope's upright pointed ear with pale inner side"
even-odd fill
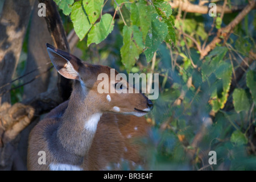
[[[60,75],[68,79],[79,80],[79,67],[83,65],[81,60],[68,52],[56,49],[48,43],[46,47],[49,58]]]

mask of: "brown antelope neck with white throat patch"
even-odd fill
[[[98,112],[92,98],[86,97],[85,88],[76,81],[68,108],[63,114],[63,121],[57,137],[65,150],[84,156],[88,153],[96,133],[102,113]]]

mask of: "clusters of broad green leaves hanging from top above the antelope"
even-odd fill
[[[87,46],[92,43],[101,43],[112,32],[114,17],[108,13],[102,15],[104,0],[80,0],[73,5],[71,1],[64,1],[64,3],[56,0],[55,2],[65,15],[68,15],[72,9],[71,20],[76,34],[80,40],[88,36]],[[142,52],[145,53],[149,62],[163,40],[170,44],[172,41],[175,42],[172,9],[167,2],[123,0],[115,1],[114,7],[115,13],[120,12],[125,24],[122,31],[121,60],[127,72],[130,72]],[[100,22],[97,22],[98,18]],[[132,41],[131,38],[133,38]]]

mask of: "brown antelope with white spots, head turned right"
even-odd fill
[[[110,77],[109,67],[82,63],[50,46],[48,52],[57,71],[74,79],[75,84],[70,100],[53,109],[31,131],[28,169],[49,170],[49,164],[70,164],[84,170],[120,169],[124,161],[133,169],[134,164],[143,164],[142,144],[135,140],[146,136],[150,127],[144,117],[122,113],[136,114],[140,111],[135,108],[148,108],[147,97],[141,93],[109,93],[108,101],[108,94],[97,92],[97,76],[106,73]],[[110,80],[108,84],[109,89],[114,86]],[[120,111],[113,110],[114,106]],[[97,113],[103,113],[97,130],[85,129]],[[39,151],[46,152],[46,164],[38,164]]]

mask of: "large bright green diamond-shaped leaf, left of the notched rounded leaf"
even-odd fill
[[[72,6],[71,11],[71,20],[73,22],[73,26],[76,32],[76,35],[79,36],[79,39],[84,39],[85,35],[92,27],[90,24],[88,17],[82,7],[82,1],[77,1]]]

